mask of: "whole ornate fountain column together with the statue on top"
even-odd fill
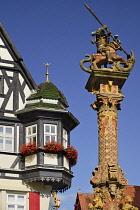
[[[95,36],[92,43],[96,43],[97,53],[87,54],[87,58],[80,61],[80,67],[90,73],[85,88],[96,94],[91,107],[97,111],[98,116],[98,166],[90,180],[94,194],[88,209],[137,209],[131,205],[130,198],[125,198],[123,188],[128,181],[118,163],[118,110],[124,99],[121,89],[133,69],[135,56],[132,51],[128,55],[119,40],[107,30],[108,26],[103,25],[91,9],[85,6],[102,25],[92,33]],[[123,50],[127,60],[117,55],[116,50]],[[86,62],[90,62],[90,69],[84,66]],[[124,198],[125,204],[122,203]]]

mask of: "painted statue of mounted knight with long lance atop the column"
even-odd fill
[[[96,44],[97,53],[92,55],[86,55],[87,59],[80,61],[81,68],[91,73],[93,70],[110,70],[110,71],[131,71],[135,63],[134,53],[131,51],[131,56],[121,47],[121,42],[118,39],[118,35],[112,36],[112,32],[109,31],[107,25],[103,25],[100,20],[95,16],[95,14],[90,10],[90,8],[85,5],[87,9],[92,13],[96,20],[102,25],[97,31],[91,33],[95,36],[95,39],[91,40],[92,44]],[[110,37],[113,41],[110,42]],[[122,57],[117,55],[116,51],[121,50],[127,55],[127,61]],[[83,64],[85,62],[90,62],[90,69],[87,69]],[[108,64],[112,64],[111,67],[107,68]],[[120,65],[122,64],[122,65]],[[102,65],[104,68],[101,68]]]

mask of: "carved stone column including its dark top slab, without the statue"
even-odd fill
[[[90,180],[94,188],[93,203],[89,209],[123,209],[123,188],[128,181],[118,164],[118,110],[124,99],[121,88],[129,72],[110,69],[92,70],[86,89],[96,94],[91,107],[98,116],[98,166]]]

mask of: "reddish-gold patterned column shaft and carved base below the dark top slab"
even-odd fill
[[[97,100],[92,104],[98,112],[99,166],[93,171],[91,184],[95,188],[94,202],[98,205],[96,197],[100,192],[103,209],[120,209],[123,187],[127,184],[118,165],[117,110],[120,109],[123,98],[118,92],[118,86],[108,81],[108,84],[100,84]]]

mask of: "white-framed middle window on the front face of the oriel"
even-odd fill
[[[55,133],[46,132],[45,126],[49,126],[50,128],[51,128],[51,127],[55,127]],[[51,129],[50,129],[50,131],[51,131]],[[49,140],[47,140],[47,141],[46,141],[46,139],[45,139],[46,136],[49,136],[49,137],[50,137]],[[55,136],[55,139],[51,139],[52,136]],[[44,144],[45,144],[46,142],[51,142],[52,140],[54,140],[54,141],[57,142],[57,125],[56,125],[56,124],[51,124],[51,123],[45,123],[45,124],[44,124]]]

